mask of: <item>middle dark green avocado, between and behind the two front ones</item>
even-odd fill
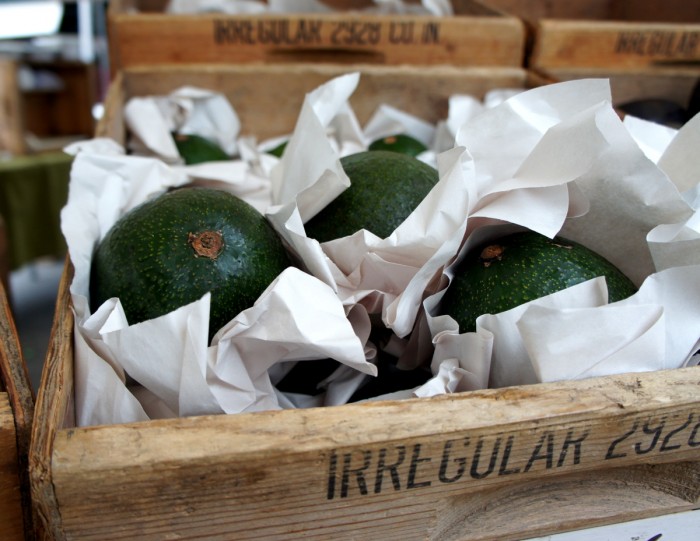
[[[307,236],[326,242],[367,229],[386,238],[438,181],[430,165],[406,154],[367,150],[341,158],[351,185],[305,225]]]

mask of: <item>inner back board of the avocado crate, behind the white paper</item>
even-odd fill
[[[181,86],[224,93],[238,114],[242,133],[262,141],[291,133],[307,92],[333,77],[360,71],[350,104],[361,123],[381,104],[410,112],[428,122],[447,117],[454,94],[481,98],[495,88],[523,88],[527,73],[520,68],[419,68],[368,65],[238,65],[159,66],[130,68],[118,74],[105,101],[98,136],[124,143],[122,109],[135,96],[165,95]]]

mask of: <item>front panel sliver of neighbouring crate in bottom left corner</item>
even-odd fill
[[[24,539],[17,433],[6,392],[0,392],[0,539]]]

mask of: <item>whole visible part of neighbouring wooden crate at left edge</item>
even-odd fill
[[[33,539],[28,455],[34,393],[0,283],[0,539]]]

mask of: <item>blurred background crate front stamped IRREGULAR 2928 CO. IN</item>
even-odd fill
[[[522,66],[525,29],[475,0],[454,16],[369,15],[369,0],[327,0],[324,14],[177,15],[166,0],[115,0],[108,9],[113,71],[169,63],[333,62]],[[174,31],[177,29],[177,31]]]

